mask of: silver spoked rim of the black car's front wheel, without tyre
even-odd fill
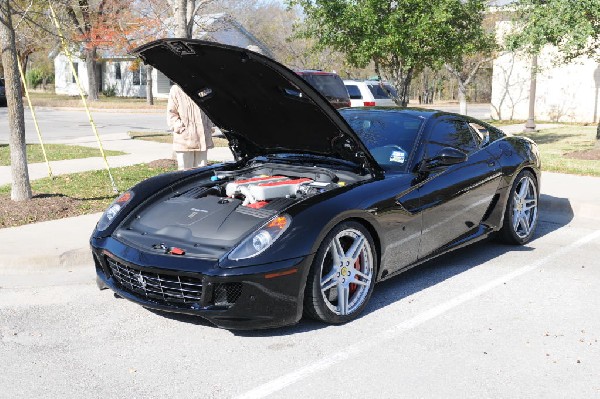
[[[329,243],[320,269],[325,305],[340,316],[356,311],[371,289],[373,252],[369,241],[358,230],[342,230]]]

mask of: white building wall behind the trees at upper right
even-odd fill
[[[499,23],[502,34],[510,22]],[[555,66],[557,50],[546,46],[538,57],[535,117],[557,122],[598,122],[600,64],[580,58]],[[527,119],[531,57],[505,53],[494,60],[491,115],[495,119]]]

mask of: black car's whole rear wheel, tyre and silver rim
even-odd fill
[[[533,238],[538,220],[538,200],[535,176],[528,170],[521,171],[506,204],[501,232],[505,242],[523,245]]]

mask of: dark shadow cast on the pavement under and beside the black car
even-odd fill
[[[564,227],[573,219],[573,217],[573,210],[568,199],[542,194],[540,197],[539,223],[532,242]],[[447,279],[480,266],[507,252],[525,252],[534,250],[534,248],[528,245],[517,246],[504,244],[500,242],[497,237],[492,236],[474,245],[441,255],[411,270],[401,273],[398,276],[377,284],[369,304],[359,318],[383,309],[419,291],[442,283]],[[156,310],[150,311],[184,323],[217,328],[200,317]],[[302,334],[331,327],[335,326],[320,323],[305,317],[302,318],[298,324],[291,326],[267,330],[231,330],[231,333],[241,337],[277,337]]]

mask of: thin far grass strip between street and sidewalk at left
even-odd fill
[[[92,147],[64,144],[46,144],[46,154],[50,161],[63,161],[65,159],[80,159],[101,156],[100,150]],[[106,156],[125,155],[121,151],[104,151]],[[27,144],[27,162],[45,162],[42,146],[39,144]],[[10,150],[8,144],[0,144],[0,166],[10,165]]]

